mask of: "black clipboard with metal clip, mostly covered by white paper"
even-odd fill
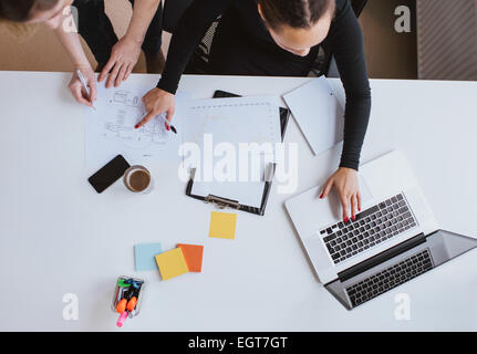
[[[216,91],[214,94],[214,98],[226,98],[226,97],[240,97],[240,96],[232,94],[232,93],[229,93],[229,92],[225,92],[225,91]],[[281,140],[282,142],[284,139],[284,133],[287,131],[289,119],[290,119],[290,111],[288,108],[280,107],[280,128],[281,128]],[[207,204],[212,202],[219,209],[231,208],[231,209],[236,209],[236,210],[241,210],[241,211],[263,216],[266,207],[267,207],[268,197],[270,195],[271,184],[273,180],[276,169],[277,169],[277,164],[274,164],[274,163],[269,164],[266,168],[265,187],[263,187],[263,194],[262,194],[262,198],[261,198],[260,208],[241,205],[239,202],[239,200],[232,200],[232,199],[222,198],[222,197],[214,196],[214,195],[208,195],[208,196],[193,195],[191,190],[193,190],[193,186],[194,186],[194,177],[195,177],[196,169],[190,170],[190,179],[187,183],[186,196],[194,198],[194,199],[201,200],[201,201],[207,202]]]

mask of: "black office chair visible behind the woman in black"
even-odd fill
[[[174,30],[184,13],[184,11],[190,6],[194,0],[165,0],[164,3],[164,30],[174,33]],[[360,17],[367,0],[351,0],[351,6],[356,18]],[[217,29],[217,24],[220,18],[217,18],[210,25],[206,34],[204,35],[199,46],[194,52],[185,73],[186,74],[207,74],[209,73],[208,62],[210,55],[210,48],[214,40],[214,34]],[[320,54],[317,58],[315,64],[313,65],[311,73],[321,76],[339,77],[336,63],[333,58],[333,53],[325,53],[320,50]]]

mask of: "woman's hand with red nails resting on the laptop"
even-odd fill
[[[333,186],[336,188],[340,196],[341,206],[343,208],[343,221],[348,222],[350,215],[354,220],[356,218],[356,209],[361,211],[361,194],[360,186],[357,185],[356,170],[340,167],[334,175],[328,179],[320,198],[326,198]]]

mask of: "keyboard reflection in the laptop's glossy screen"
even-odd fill
[[[357,306],[431,269],[433,269],[433,262],[429,252],[424,250],[346,288],[346,292],[353,306]]]

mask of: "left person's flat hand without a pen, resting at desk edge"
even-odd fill
[[[106,88],[110,88],[113,84],[117,87],[123,81],[126,81],[139,59],[141,44],[141,42],[127,35],[123,37],[113,46],[111,58],[106,65],[104,65],[97,81],[102,82],[110,74],[106,81]]]

